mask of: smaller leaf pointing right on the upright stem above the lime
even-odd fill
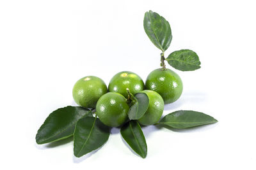
[[[170,53],[166,58],[170,66],[180,71],[193,71],[200,69],[200,60],[198,55],[192,50],[179,50]]]

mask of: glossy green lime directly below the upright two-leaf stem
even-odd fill
[[[155,69],[148,74],[146,89],[159,93],[164,104],[173,103],[182,94],[183,85],[177,73],[170,69]]]

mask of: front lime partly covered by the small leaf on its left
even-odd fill
[[[138,122],[141,125],[153,125],[156,124],[161,116],[163,115],[164,111],[164,101],[163,98],[157,93],[152,90],[143,90],[141,93],[145,93],[148,96],[149,104],[148,110],[146,113],[141,117]]]

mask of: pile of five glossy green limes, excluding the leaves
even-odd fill
[[[173,103],[182,94],[182,81],[170,69],[159,68],[152,71],[146,80],[136,73],[122,71],[111,78],[108,87],[96,76],[86,76],[76,82],[73,88],[74,101],[84,108],[96,108],[100,121],[110,127],[118,127],[128,121],[127,112],[131,101],[129,93],[147,94],[148,109],[138,122],[141,125],[156,124],[161,118],[164,104]]]

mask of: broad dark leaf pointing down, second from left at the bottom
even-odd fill
[[[102,124],[99,118],[81,118],[74,132],[74,155],[82,157],[102,146],[108,138],[109,127]]]

